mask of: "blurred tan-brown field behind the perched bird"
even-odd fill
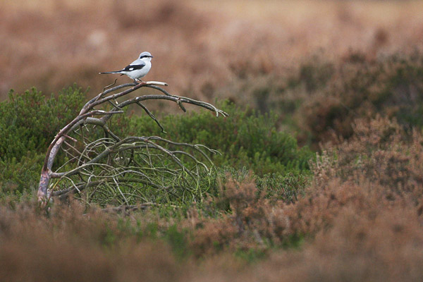
[[[115,78],[99,71],[141,51],[154,56],[146,80],[210,102],[242,100],[233,85],[283,78],[313,56],[419,49],[422,11],[422,1],[1,0],[0,101],[12,88],[49,94],[74,82],[94,94]]]

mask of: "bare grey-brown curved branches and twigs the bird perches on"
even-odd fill
[[[116,192],[118,192],[118,195],[121,195],[121,197],[123,197],[123,200],[125,200],[125,204],[128,205],[128,199],[129,197],[132,197],[131,195],[133,194],[125,194],[125,192],[123,192],[123,190],[119,188],[119,183],[125,183],[125,178],[122,177],[125,177],[125,175],[128,173],[132,175],[138,175],[144,178],[143,180],[138,178],[138,183],[144,183],[145,185],[149,185],[152,188],[168,190],[168,188],[170,188],[171,186],[173,188],[179,187],[179,185],[177,184],[178,181],[185,181],[183,174],[180,173],[186,173],[193,180],[198,178],[195,171],[198,172],[199,168],[197,167],[196,170],[192,171],[192,168],[189,169],[188,167],[186,167],[185,164],[183,164],[183,161],[176,157],[176,154],[186,156],[188,157],[188,159],[192,159],[192,161],[194,161],[195,166],[202,166],[206,169],[206,171],[208,170],[207,166],[202,161],[197,159],[197,154],[191,154],[189,152],[185,152],[178,149],[172,151],[166,149],[166,147],[159,145],[158,142],[163,142],[166,146],[173,145],[178,147],[189,148],[192,150],[192,152],[198,152],[199,155],[202,156],[202,158],[207,159],[207,161],[212,164],[212,160],[200,148],[205,148],[208,152],[211,152],[213,154],[216,153],[216,151],[204,147],[202,145],[178,143],[157,136],[130,136],[121,139],[121,137],[119,137],[109,129],[109,126],[106,123],[112,116],[116,114],[123,114],[123,108],[125,106],[129,106],[130,104],[138,104],[142,107],[142,109],[144,109],[145,113],[157,123],[159,128],[161,128],[161,131],[165,132],[163,126],[161,126],[157,118],[152,114],[152,112],[149,111],[149,109],[147,109],[144,104],[141,103],[142,101],[159,99],[175,102],[180,107],[180,109],[183,109],[183,111],[186,111],[183,104],[192,104],[195,106],[200,106],[204,109],[208,109],[209,111],[214,111],[216,113],[216,116],[219,116],[219,114],[221,114],[222,116],[227,116],[228,114],[226,114],[220,109],[217,109],[215,106],[207,102],[197,101],[188,97],[180,97],[177,95],[173,95],[164,90],[163,88],[157,86],[167,86],[166,82],[132,82],[114,86],[115,84],[116,80],[113,84],[104,87],[103,91],[97,94],[96,97],[90,99],[84,106],[82,106],[80,114],[78,114],[78,116],[76,116],[73,121],[63,127],[56,135],[56,137],[54,137],[54,140],[51,142],[49,148],[47,149],[47,154],[44,159],[44,165],[42,167],[42,172],[39,179],[39,188],[37,196],[40,204],[47,204],[47,201],[49,199],[48,188],[51,178],[67,179],[67,181],[71,181],[72,183],[74,180],[82,180],[82,183],[73,184],[70,188],[51,192],[51,195],[53,196],[67,195],[69,192],[73,192],[75,190],[80,192],[86,188],[97,187],[98,185],[104,183],[104,185],[106,185],[104,187],[109,187],[107,189],[112,189],[112,186],[116,186]],[[158,90],[162,94],[147,94],[130,99],[124,99],[122,102],[118,102],[117,99],[125,97],[127,94],[130,94],[131,92],[134,92],[135,90],[138,90],[141,87],[148,87],[153,90]],[[123,90],[124,88],[128,89]],[[114,93],[118,90],[123,91]],[[102,111],[100,109],[95,109],[96,107],[104,106],[104,104],[109,102],[113,105],[110,111]],[[102,117],[97,118],[95,116]],[[106,138],[101,138],[95,140],[94,142],[91,142],[90,139],[85,136],[86,134],[91,134],[88,130],[87,125],[92,125],[94,127],[98,126],[102,128],[104,130],[104,136],[106,136]],[[80,130],[79,133],[78,130]],[[84,131],[86,131],[87,133],[84,133]],[[71,137],[71,133],[75,134],[77,139],[79,138],[80,141],[78,141],[74,137]],[[110,136],[111,139],[108,136]],[[66,138],[70,138],[73,141],[73,144],[71,144],[70,142],[64,142]],[[66,145],[66,148],[64,149],[61,148],[63,144]],[[81,148],[80,146],[83,147]],[[70,157],[70,159],[68,159],[68,161],[61,165],[58,170],[53,171],[52,166],[60,149],[63,149],[66,153],[66,156]],[[113,154],[117,155],[115,155],[114,157]],[[155,159],[154,163],[152,161],[153,158]],[[176,171],[172,171],[170,168],[167,167],[168,161],[165,161],[166,158],[173,162],[175,167],[173,167],[172,169],[177,168]],[[104,160],[106,160],[105,163]],[[133,168],[129,168],[129,164],[131,163],[133,164]],[[148,166],[143,167],[143,163],[145,163],[146,165],[148,164]],[[72,166],[74,167],[72,168]],[[59,170],[65,168],[68,169],[68,171],[59,172]],[[147,176],[147,172],[145,173],[143,171],[149,171],[148,173],[150,173],[152,177],[158,177],[160,175],[161,177],[165,177],[166,179],[168,179],[168,181],[170,181],[169,183],[171,183],[171,186],[168,186],[166,188],[163,185],[157,185],[157,183],[154,182],[155,180],[153,178],[150,178],[150,176]],[[73,178],[73,180],[71,178]],[[78,181],[76,181],[75,183],[78,183]],[[56,185],[57,183],[54,187],[56,187]],[[96,188],[94,188],[94,191],[95,189]],[[125,195],[128,195],[128,199],[125,197]],[[134,197],[139,196],[134,195]],[[142,196],[142,198],[144,198],[144,196]]]

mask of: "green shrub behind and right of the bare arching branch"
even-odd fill
[[[278,116],[262,115],[254,110],[243,111],[228,102],[220,107],[229,114],[228,117],[216,118],[206,111],[165,116],[160,122],[167,133],[161,133],[147,116],[133,116],[129,132],[159,135],[217,149],[221,155],[213,156],[216,166],[247,167],[259,176],[308,171],[312,152],[307,147],[298,147],[292,135],[276,130]]]

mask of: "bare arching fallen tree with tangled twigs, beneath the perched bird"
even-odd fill
[[[37,192],[42,207],[50,197],[61,199],[75,192],[85,193],[85,202],[97,200],[100,204],[107,204],[117,199],[118,204],[128,207],[133,206],[130,202],[156,197],[150,188],[166,191],[167,196],[164,197],[178,197],[178,190],[183,189],[180,197],[185,197],[185,191],[194,191],[190,185],[198,185],[200,173],[209,171],[202,159],[212,165],[207,153],[216,154],[215,150],[158,136],[120,137],[110,130],[107,122],[113,116],[123,114],[125,106],[137,104],[165,133],[157,118],[141,103],[147,100],[175,102],[183,111],[186,111],[183,104],[192,104],[214,111],[216,116],[227,116],[224,111],[207,102],[173,95],[159,87],[167,86],[166,82],[115,84],[116,80],[82,106],[78,116],[59,130],[49,145]],[[157,90],[161,94],[125,99],[126,95],[141,87]],[[98,109],[107,104],[112,104],[111,109]],[[104,137],[95,135],[96,128],[102,128]],[[54,168],[60,151],[65,153],[68,160]],[[190,181],[194,181],[194,184],[190,184]]]

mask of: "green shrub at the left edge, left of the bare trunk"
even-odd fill
[[[35,88],[9,92],[0,102],[0,188],[35,188],[45,152],[58,131],[78,115],[85,100],[80,88],[63,89],[46,98]]]

